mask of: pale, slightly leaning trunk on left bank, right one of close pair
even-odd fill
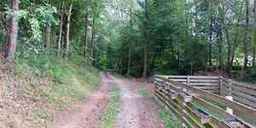
[[[67,25],[66,25],[66,27],[67,27],[67,32],[66,32],[66,45],[65,45],[65,47],[66,47],[66,51],[65,51],[65,56],[67,57],[67,55],[68,55],[68,49],[69,49],[69,31],[70,31],[70,17],[71,17],[71,15],[72,15],[72,5],[70,5],[70,7],[69,7],[69,10],[68,10],[68,14],[67,14]]]

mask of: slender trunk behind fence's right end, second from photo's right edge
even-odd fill
[[[244,62],[241,68],[241,73],[243,73],[244,70],[247,69],[247,63],[248,63],[247,42],[248,42],[248,24],[249,24],[249,2],[248,0],[245,0],[245,2],[246,2],[246,26],[244,28],[244,39],[243,39]]]

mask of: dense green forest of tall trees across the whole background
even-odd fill
[[[150,78],[217,73],[255,82],[256,1],[1,0],[10,68],[57,57]],[[46,61],[47,60],[47,61]]]

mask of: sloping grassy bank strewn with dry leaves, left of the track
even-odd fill
[[[55,113],[83,100],[99,84],[98,70],[85,67],[82,57],[19,57],[17,71],[0,78],[0,103],[9,110],[0,111],[0,127],[45,127]]]

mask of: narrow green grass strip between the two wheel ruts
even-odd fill
[[[99,128],[113,127],[113,123],[119,113],[120,99],[119,89],[115,88],[113,90],[113,96],[109,100],[107,111],[99,117]]]

